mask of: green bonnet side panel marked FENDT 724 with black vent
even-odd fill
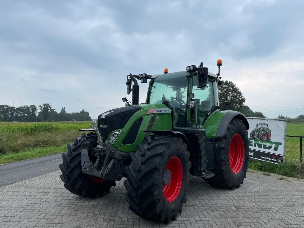
[[[116,129],[112,133],[122,130],[115,143],[111,145],[122,152],[133,152],[137,143],[142,143],[146,135],[145,130],[172,130],[171,112],[157,113],[155,109],[168,109],[163,104],[140,105],[142,109],[135,112],[123,129]]]

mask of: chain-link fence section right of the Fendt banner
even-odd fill
[[[304,136],[286,135],[285,159],[303,163],[302,139]]]

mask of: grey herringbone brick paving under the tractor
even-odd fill
[[[89,199],[68,192],[54,171],[0,188],[0,227],[165,227],[128,209],[123,181]],[[182,215],[168,227],[304,227],[304,180],[248,173],[235,190],[192,177]]]

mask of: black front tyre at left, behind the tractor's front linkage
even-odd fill
[[[64,187],[73,194],[95,198],[102,196],[104,192],[109,193],[110,188],[115,186],[115,181],[92,177],[81,172],[80,140],[83,138],[88,139],[93,147],[96,147],[95,134],[75,138],[73,143],[67,144],[67,151],[62,154],[63,163],[59,165],[62,172],[60,178],[64,182]]]

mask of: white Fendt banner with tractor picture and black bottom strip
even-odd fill
[[[287,119],[246,118],[249,123],[249,157],[285,163]]]

